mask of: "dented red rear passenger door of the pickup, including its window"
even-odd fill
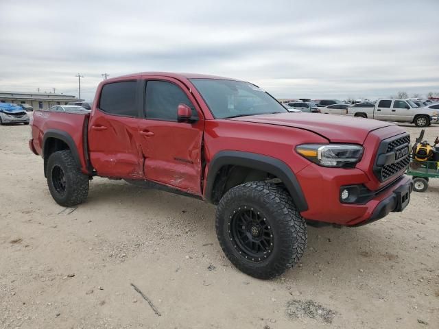
[[[131,79],[106,84],[100,91],[88,123],[90,160],[98,175],[144,178],[138,86],[139,82]]]

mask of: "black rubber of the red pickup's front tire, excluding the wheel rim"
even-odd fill
[[[260,212],[272,228],[272,250],[259,261],[245,258],[230,235],[230,223],[233,225],[236,212],[244,207]],[[292,198],[284,188],[267,182],[247,182],[231,188],[217,206],[216,231],[219,245],[230,262],[259,279],[274,278],[293,267],[307,246],[307,224]]]

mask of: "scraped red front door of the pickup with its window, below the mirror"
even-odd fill
[[[178,80],[148,77],[143,83],[145,119],[139,122],[139,134],[145,157],[145,178],[202,195],[204,120],[198,104]],[[191,119],[178,119],[180,104],[191,108]]]

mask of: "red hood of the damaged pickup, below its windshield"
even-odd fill
[[[295,127],[315,132],[331,142],[357,144],[363,144],[366,136],[372,130],[394,125],[393,123],[372,119],[318,113],[261,114],[227,120]]]

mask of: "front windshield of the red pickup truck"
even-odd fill
[[[287,113],[276,99],[248,82],[191,79],[217,119],[247,115]]]

